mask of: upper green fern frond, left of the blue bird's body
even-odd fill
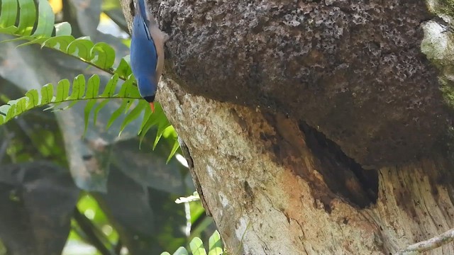
[[[114,68],[114,48],[105,42],[94,43],[89,37],[74,38],[71,35],[70,24],[67,22],[54,24],[54,17],[47,0],[39,1],[38,12],[33,0],[2,0],[0,33],[16,36],[4,42],[28,40],[19,46],[40,44],[41,47],[77,57],[109,74],[118,74],[118,77],[125,81],[128,79],[132,72],[126,60],[122,60],[118,67]],[[16,25],[17,18],[18,25]],[[32,31],[34,31],[33,34],[31,34]]]

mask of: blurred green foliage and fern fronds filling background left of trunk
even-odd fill
[[[140,99],[128,43],[96,31],[101,1],[65,1],[57,24],[46,0],[0,3],[0,254],[159,254],[209,237],[198,201],[173,203],[194,191],[177,135]]]

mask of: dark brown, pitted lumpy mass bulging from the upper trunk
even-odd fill
[[[167,75],[188,93],[304,121],[362,166],[431,154],[448,129],[438,71],[420,50],[421,23],[434,17],[424,1],[173,0],[157,9],[172,38]]]

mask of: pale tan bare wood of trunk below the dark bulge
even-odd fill
[[[323,162],[294,120],[271,122],[254,109],[186,94],[171,80],[158,99],[233,254],[390,254],[454,225],[443,159],[380,169],[379,199],[360,209],[324,184]],[[279,137],[281,154],[264,137]],[[453,246],[433,252],[453,253]]]

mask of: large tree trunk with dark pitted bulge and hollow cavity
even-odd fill
[[[150,4],[157,101],[232,254],[394,254],[454,227],[450,6],[356,2]]]

